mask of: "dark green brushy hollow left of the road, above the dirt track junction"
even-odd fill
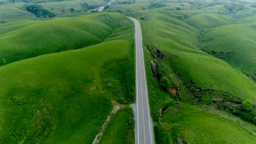
[[[133,54],[133,51],[130,51]],[[133,55],[131,55],[133,56]],[[131,104],[135,103],[135,76],[134,68],[135,65],[134,58],[124,58],[124,59],[114,59],[107,62],[106,68],[102,70],[102,77],[104,77],[104,87],[108,89],[117,98],[120,104]],[[128,67],[124,69],[123,65]],[[113,65],[113,68],[109,69],[107,65]],[[124,83],[124,81],[126,81]]]

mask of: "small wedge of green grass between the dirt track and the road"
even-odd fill
[[[119,110],[108,124],[100,143],[135,143],[134,123],[131,108]]]

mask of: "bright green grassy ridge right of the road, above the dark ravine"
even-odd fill
[[[150,43],[165,56],[158,59],[160,63],[162,61],[166,64],[158,65],[159,70],[166,70],[159,72],[161,76],[167,76],[173,71],[184,84],[176,87],[183,89],[194,83],[201,89],[227,92],[256,101],[256,84],[224,61],[200,51],[195,45],[196,30],[173,17],[168,18],[168,15],[163,19],[163,10],[159,10],[159,13],[153,11],[155,10],[144,11],[149,15],[146,34],[150,37]]]

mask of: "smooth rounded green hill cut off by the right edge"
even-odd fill
[[[256,76],[255,32],[255,23],[214,28],[203,34],[202,47],[243,73]]]

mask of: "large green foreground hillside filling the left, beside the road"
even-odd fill
[[[0,67],[0,143],[92,143],[119,97],[106,86],[125,91],[119,83],[129,83],[133,93],[135,87],[131,22],[109,17],[121,23],[104,43]]]

